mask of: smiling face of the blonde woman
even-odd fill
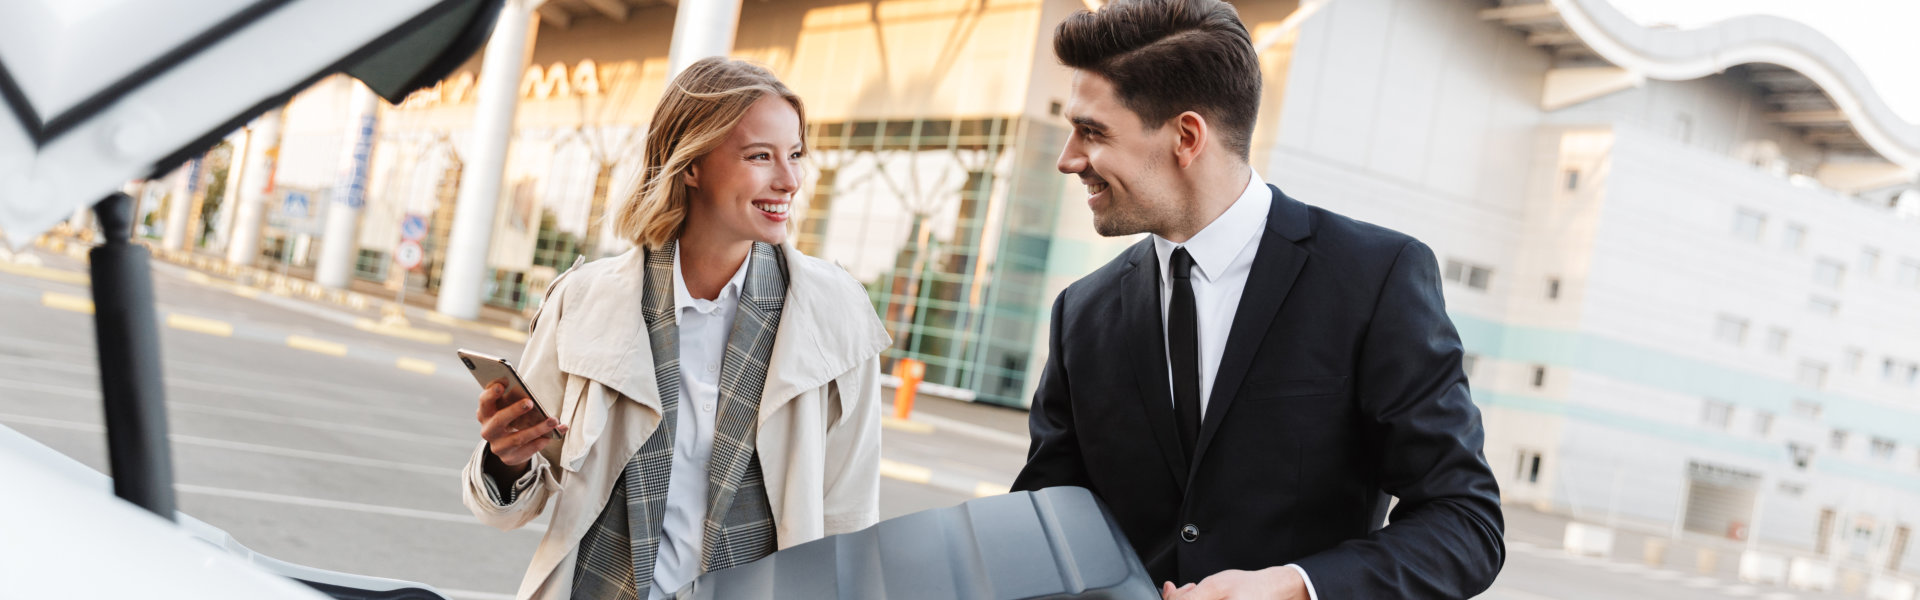
[[[760,98],[733,133],[687,171],[693,188],[687,229],[720,242],[785,242],[803,154],[801,115],[780,96]]]

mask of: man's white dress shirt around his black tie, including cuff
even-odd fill
[[[1206,417],[1208,400],[1213,396],[1213,379],[1219,373],[1219,358],[1227,352],[1227,333],[1233,331],[1233,315],[1240,312],[1240,292],[1246,290],[1246,275],[1254,271],[1254,256],[1260,254],[1260,237],[1267,231],[1267,212],[1273,210],[1273,192],[1260,173],[1248,169],[1246,188],[1233,200],[1227,212],[1213,217],[1194,233],[1185,244],[1169,242],[1154,235],[1154,258],[1160,260],[1160,337],[1162,348],[1167,344],[1167,308],[1173,304],[1173,277],[1167,262],[1175,248],[1187,248],[1194,260],[1194,325],[1200,335],[1200,415]],[[1173,358],[1167,356],[1167,390],[1173,388]],[[1171,398],[1171,394],[1169,394]],[[1202,421],[1204,423],[1204,421]],[[1300,565],[1288,565],[1308,583],[1308,596],[1319,600],[1313,579]]]

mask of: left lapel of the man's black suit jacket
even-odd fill
[[[1127,356],[1133,360],[1133,381],[1140,388],[1140,408],[1154,429],[1154,444],[1165,458],[1173,481],[1187,488],[1187,456],[1173,431],[1173,390],[1167,379],[1165,329],[1160,325],[1160,260],[1154,240],[1133,246],[1131,267],[1119,277],[1121,331],[1127,333]]]

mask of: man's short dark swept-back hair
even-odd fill
[[[1260,58],[1240,15],[1219,0],[1116,0],[1054,29],[1054,56],[1114,83],[1121,104],[1160,129],[1196,112],[1227,148],[1250,156]]]

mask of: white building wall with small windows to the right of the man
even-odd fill
[[[1705,463],[1763,477],[1768,542],[1812,548],[1820,510],[1876,519],[1874,544],[1920,521],[1920,271],[1903,271],[1920,223],[1789,179],[1820,156],[1759,117],[1753,87],[1651,81],[1542,112],[1548,52],[1444,2],[1332,2],[1292,52],[1263,175],[1492,271],[1444,288],[1507,502],[1670,523]],[[1763,142],[1780,163],[1753,163]],[[1734,238],[1740,210],[1764,213],[1759,240]],[[1789,223],[1799,250],[1782,248]],[[1814,281],[1822,260],[1839,285]],[[1722,313],[1747,319],[1743,344],[1715,340]],[[1726,425],[1707,402],[1730,406]],[[1788,442],[1816,448],[1807,469]]]

